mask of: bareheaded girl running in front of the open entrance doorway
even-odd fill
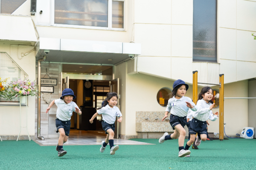
[[[100,148],[101,153],[103,153],[106,149],[108,142],[110,145],[111,155],[114,155],[116,150],[119,149],[118,145],[114,146],[116,116],[118,117],[117,121],[122,122],[122,113],[120,112],[119,108],[116,107],[117,99],[118,96],[116,92],[108,93],[103,106],[101,108],[97,108],[97,113],[95,113],[93,117],[90,119],[90,123],[93,123],[93,119],[95,119],[96,116],[102,114],[102,128],[105,130],[107,137],[105,141],[102,141],[102,146]]]

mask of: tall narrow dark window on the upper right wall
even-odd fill
[[[193,61],[217,62],[216,0],[193,1]]]

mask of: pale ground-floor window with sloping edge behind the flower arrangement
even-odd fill
[[[2,79],[10,78],[9,81],[15,81],[17,78],[25,79],[27,75],[17,66],[17,64],[6,54],[0,53],[0,77]],[[0,104],[16,105],[20,98],[14,98],[12,101],[0,98]]]

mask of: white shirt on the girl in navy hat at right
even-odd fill
[[[176,99],[174,96],[168,100],[166,111],[171,111],[171,114],[179,117],[187,116],[189,108],[187,107],[186,102],[191,103],[191,105],[194,107],[191,109],[192,111],[197,110],[195,103],[193,103],[189,97],[182,96],[180,99]]]

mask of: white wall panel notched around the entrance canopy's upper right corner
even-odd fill
[[[141,56],[171,56],[171,25],[135,24],[134,41],[141,43]]]

